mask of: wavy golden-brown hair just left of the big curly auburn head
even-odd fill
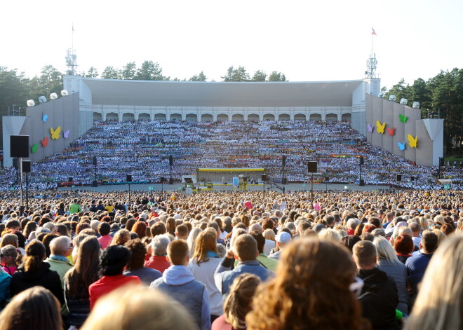
[[[245,273],[236,277],[224,303],[224,317],[233,329],[246,329],[245,317],[250,311],[255,289],[260,284],[256,275]]]

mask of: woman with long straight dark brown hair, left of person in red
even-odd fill
[[[76,263],[65,275],[65,296],[69,315],[67,326],[81,327],[90,314],[88,287],[98,280],[100,270],[100,242],[88,236],[79,245]]]

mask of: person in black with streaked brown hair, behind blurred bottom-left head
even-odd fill
[[[26,255],[22,259],[21,266],[11,277],[11,296],[39,285],[50,290],[61,305],[64,305],[65,295],[62,290],[60,275],[50,269],[50,263],[43,262],[45,259],[45,245],[42,242],[34,240],[27,245]]]

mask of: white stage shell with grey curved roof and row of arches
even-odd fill
[[[64,88],[79,92],[80,134],[95,119],[351,121],[365,134],[365,95],[378,95],[380,79],[208,83],[65,76]]]

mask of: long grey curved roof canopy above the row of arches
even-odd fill
[[[351,106],[355,81],[208,83],[83,78],[93,104],[130,106]]]

